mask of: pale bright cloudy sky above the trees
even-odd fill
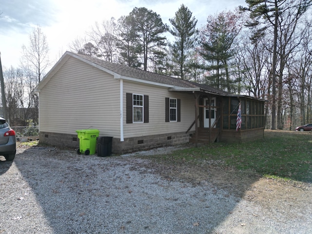
[[[204,25],[209,15],[247,5],[245,0],[0,0],[2,68],[19,67],[21,46],[28,46],[29,34],[37,25],[47,37],[49,58],[55,63],[96,21],[118,19],[134,7],[146,7],[171,26],[169,19],[182,3],[198,20],[197,27]]]

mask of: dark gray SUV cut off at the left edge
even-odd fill
[[[12,161],[16,154],[16,136],[4,118],[0,117],[0,155]]]

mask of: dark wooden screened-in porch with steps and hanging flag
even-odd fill
[[[264,137],[266,100],[202,89],[193,94],[197,121],[187,130],[195,125],[190,142],[246,142]]]

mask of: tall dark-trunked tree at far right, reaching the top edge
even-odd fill
[[[254,19],[250,23],[250,26],[261,25],[259,34],[263,34],[265,30],[272,29],[270,33],[273,37],[273,59],[272,59],[272,127],[275,129],[275,116],[276,116],[276,77],[277,75],[277,56],[283,56],[281,59],[281,69],[285,67],[285,61],[287,60],[287,51],[283,51],[284,46],[289,45],[289,39],[292,39],[294,30],[297,27],[298,20],[307,12],[310,8],[311,0],[246,0],[248,4],[247,9],[251,12],[251,17]],[[289,27],[289,28],[288,28]],[[284,43],[279,44],[278,42]],[[283,60],[285,59],[285,61]],[[279,70],[280,72],[280,70]],[[282,94],[281,80],[278,79],[279,94]],[[281,103],[278,103],[281,106]],[[280,107],[279,106],[279,107]],[[281,109],[278,110],[278,128],[281,127]]]

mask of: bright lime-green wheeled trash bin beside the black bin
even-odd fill
[[[79,138],[78,154],[94,155],[97,149],[98,129],[76,130]]]

